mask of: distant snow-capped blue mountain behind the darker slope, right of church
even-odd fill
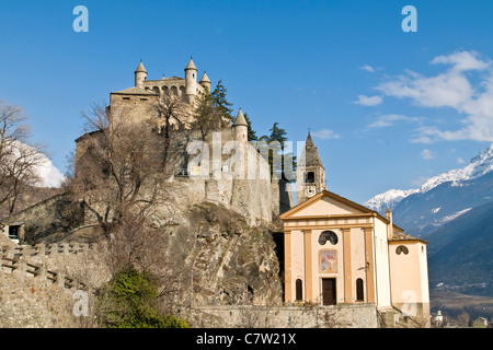
[[[429,178],[421,188],[391,189],[368,200],[365,206],[385,213],[410,234],[425,237],[432,231],[493,201],[493,143],[463,168]]]

